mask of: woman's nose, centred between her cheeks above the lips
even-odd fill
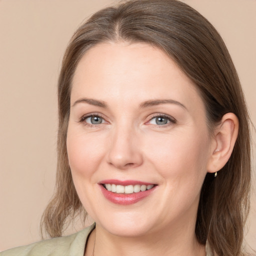
[[[140,139],[131,128],[113,131],[107,154],[107,162],[118,169],[134,168],[142,164]]]

